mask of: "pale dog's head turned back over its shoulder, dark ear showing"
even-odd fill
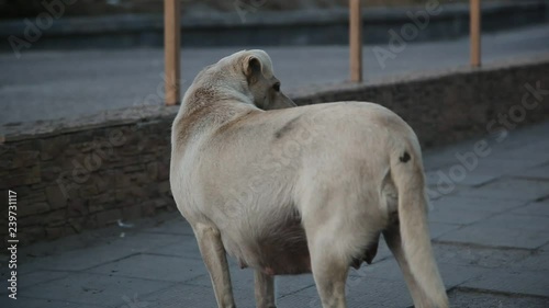
[[[266,52],[254,49],[240,52],[239,61],[246,78],[246,90],[254,98],[254,104],[262,110],[278,110],[295,106],[280,90],[280,81],[274,77],[272,62]]]

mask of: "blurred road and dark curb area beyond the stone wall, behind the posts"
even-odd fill
[[[482,1],[483,60],[547,53],[547,3]],[[366,81],[468,66],[469,1],[361,5]],[[245,48],[271,55],[290,94],[349,80],[348,1],[197,0],[180,8],[181,95],[202,67]],[[0,124],[164,104],[156,90],[164,82],[163,10],[163,1],[146,0],[1,0]]]

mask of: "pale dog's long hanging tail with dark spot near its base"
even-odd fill
[[[399,192],[399,220],[404,255],[412,275],[436,307],[447,308],[448,296],[433,256],[427,225],[428,197],[419,145],[402,145],[391,157],[391,176]]]

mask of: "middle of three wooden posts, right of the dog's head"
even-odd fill
[[[349,0],[350,81],[362,81],[362,12],[360,0]]]

